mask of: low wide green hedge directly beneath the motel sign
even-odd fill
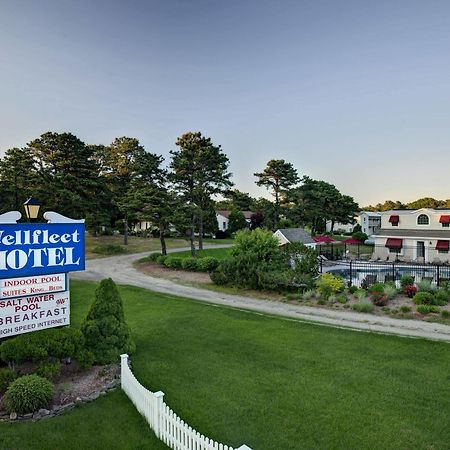
[[[84,350],[84,336],[75,328],[52,328],[21,334],[0,345],[0,358],[14,366],[26,361],[42,362],[48,359],[78,360]]]

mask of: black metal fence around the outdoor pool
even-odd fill
[[[441,286],[450,281],[450,265],[406,264],[401,262],[364,262],[320,260],[320,272],[339,275],[347,281],[348,286],[365,287],[375,282],[394,282],[400,286],[403,275],[410,275],[414,282],[429,281],[434,286]]]

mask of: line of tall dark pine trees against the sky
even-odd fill
[[[154,225],[165,254],[169,229],[186,236],[193,253],[198,236],[201,249],[204,234],[217,231],[220,208],[233,211],[237,229],[246,225],[242,211],[248,210],[252,228],[308,226],[312,232],[324,230],[328,220],[353,222],[358,211],[352,197],[325,181],[300,178],[284,160],[271,160],[254,174],[274,201],[252,198],[233,189],[229,164],[221,146],[201,132],[178,137],[167,166],[133,137],[90,145],[72,133],[47,132],[8,149],[0,160],[0,212],[21,210],[33,196],[45,210],[85,218],[94,234],[120,228],[125,243],[130,224],[145,220]],[[215,200],[219,195],[223,200]]]

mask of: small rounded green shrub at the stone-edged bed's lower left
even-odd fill
[[[6,391],[6,410],[27,414],[49,407],[53,399],[53,386],[38,375],[25,375],[13,381]]]

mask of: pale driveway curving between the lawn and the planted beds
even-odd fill
[[[227,245],[215,245],[211,247],[223,248],[227,247]],[[208,246],[205,246],[205,248],[208,248]],[[171,252],[181,250],[188,249],[176,249],[171,250]],[[356,313],[353,311],[328,310],[312,306],[264,301],[251,297],[229,295],[206,289],[183,286],[163,278],[151,277],[139,272],[133,267],[133,261],[148,254],[149,252],[88,260],[86,270],[84,272],[74,272],[71,274],[71,277],[91,281],[111,277],[118,284],[138,286],[165,294],[194,298],[208,303],[259,313],[311,321],[340,328],[352,328],[361,331],[374,331],[450,342],[450,326],[448,325],[419,320],[392,319],[390,317]]]

